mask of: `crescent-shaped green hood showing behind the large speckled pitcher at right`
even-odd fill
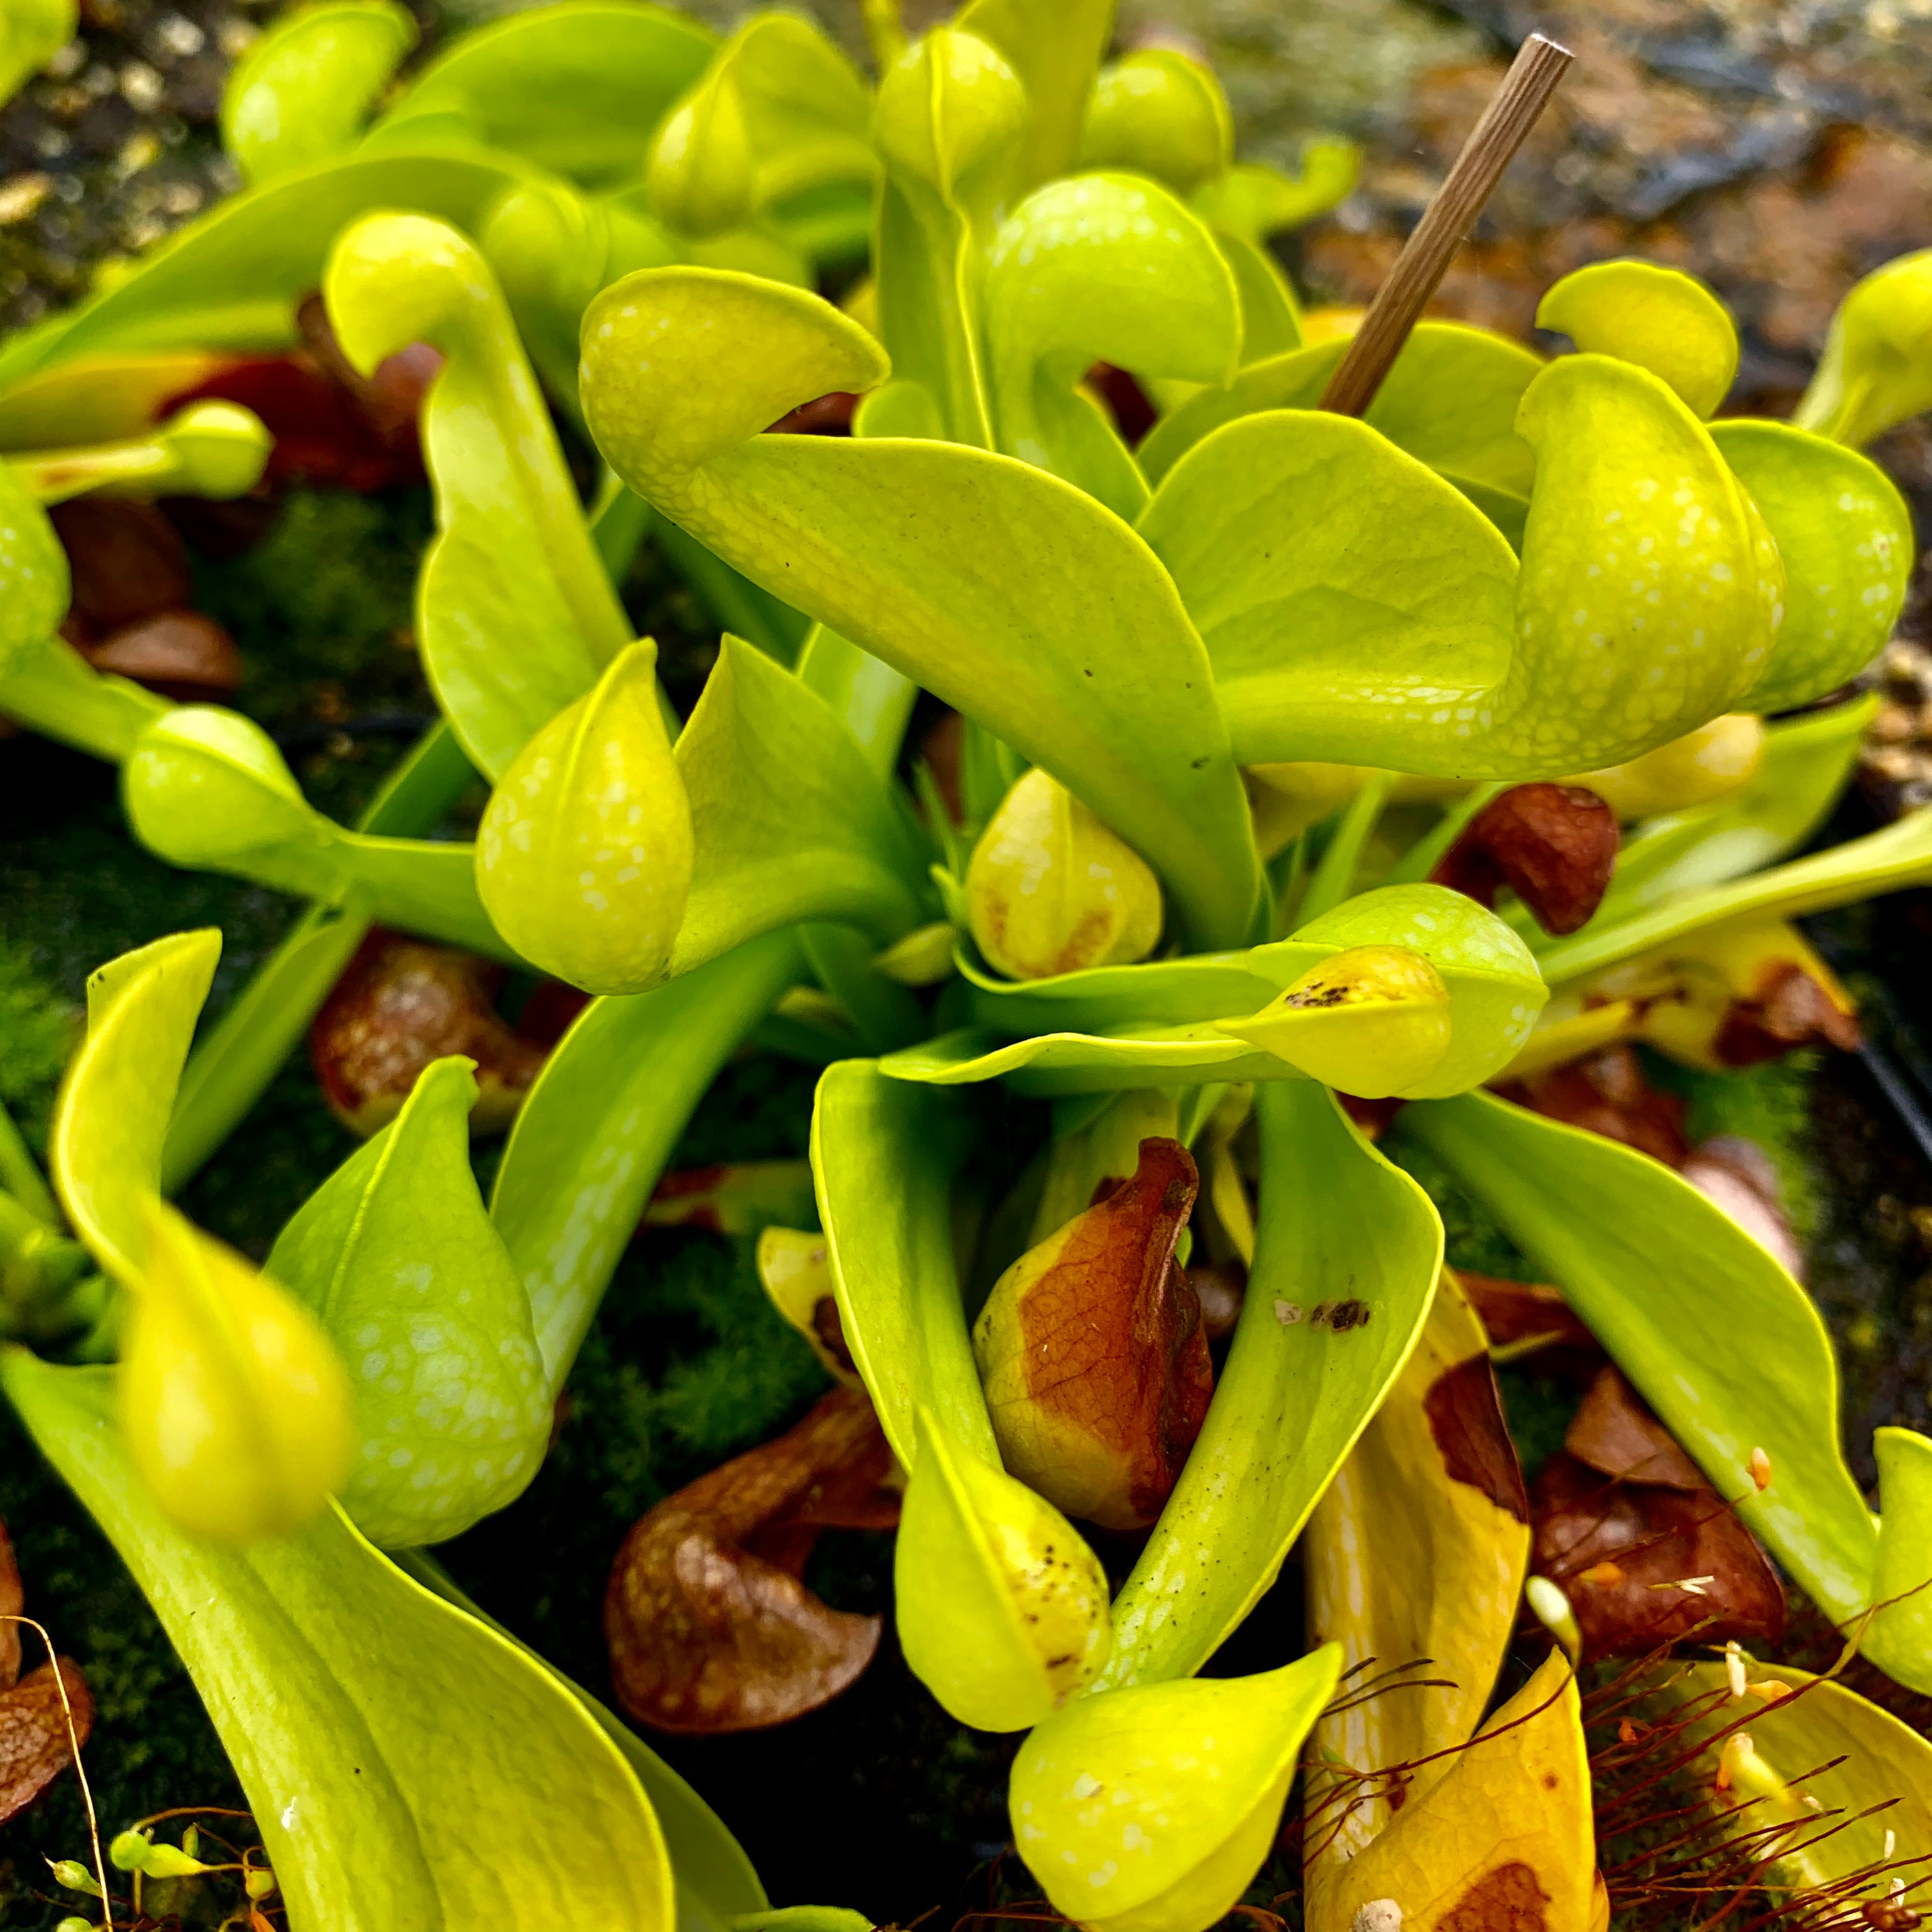
[[[1891,477],[1785,423],[1712,423],[1712,440],[1772,526],[1785,616],[1770,668],[1743,711],[1791,711],[1878,657],[1905,605],[1917,543]]]

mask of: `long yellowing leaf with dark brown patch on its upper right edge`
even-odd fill
[[[1447,1269],[1387,1401],[1316,1505],[1302,1542],[1310,1633],[1349,1673],[1410,1671],[1316,1725],[1329,1766],[1414,1766],[1401,1804],[1476,1735],[1522,1609],[1530,1499],[1490,1368],[1490,1337]],[[1416,1665],[1422,1665],[1420,1669]],[[1416,1679],[1432,1679],[1428,1687]],[[1432,1762],[1434,1760],[1434,1762]],[[1395,1816],[1387,1787],[1310,1818],[1321,1861],[1347,1861]]]

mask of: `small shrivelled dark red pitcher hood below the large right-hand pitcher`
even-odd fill
[[[1430,877],[1493,906],[1507,885],[1546,933],[1575,933],[1617,866],[1617,813],[1580,784],[1513,784],[1490,800]]]

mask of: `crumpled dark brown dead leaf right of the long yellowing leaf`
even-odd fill
[[[1783,1636],[1777,1577],[1708,1484],[1623,1482],[1559,1449],[1532,1497],[1532,1563],[1569,1594],[1584,1658],[1648,1656],[1692,1633],[1700,1644]],[[1685,1578],[1708,1580],[1671,1588]]]

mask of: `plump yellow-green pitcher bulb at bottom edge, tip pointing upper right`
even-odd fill
[[[1088,1932],[1200,1932],[1275,1841],[1337,1644],[1260,1677],[1126,1685],[1047,1718],[1007,1793],[1020,1857]]]

